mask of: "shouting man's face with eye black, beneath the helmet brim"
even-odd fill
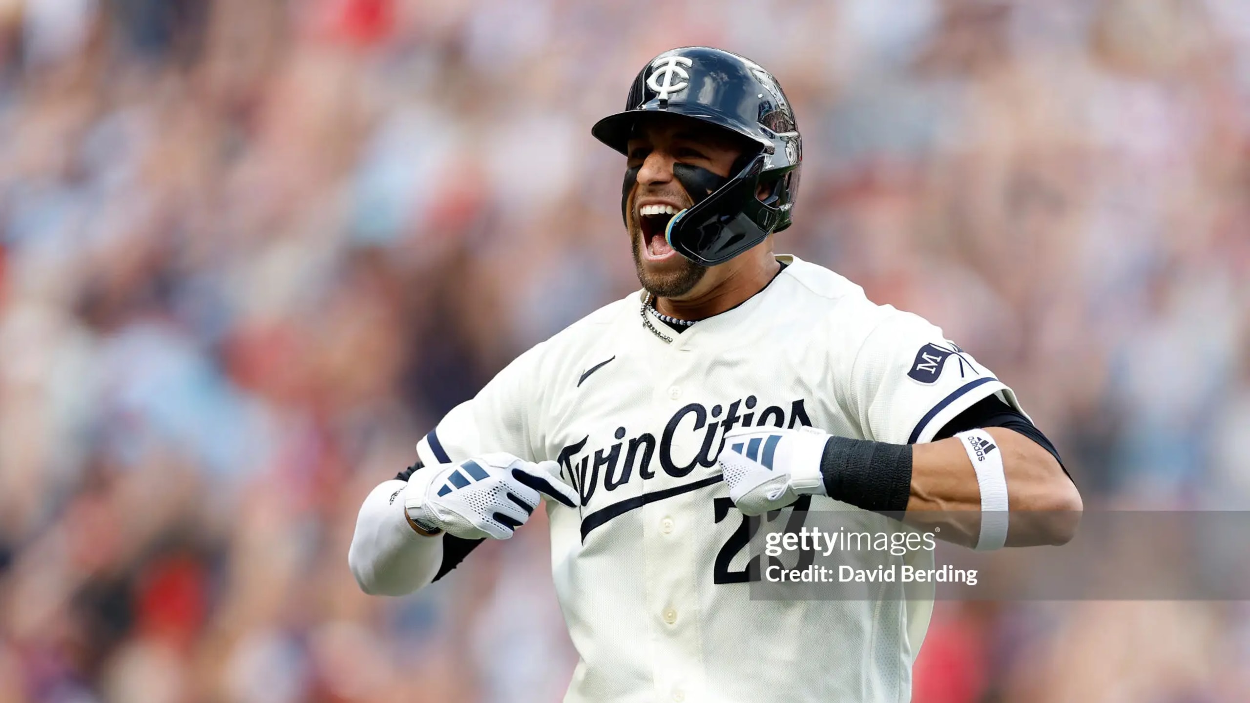
[[[672,174],[672,164],[689,164],[728,178],[742,150],[731,135],[679,115],[649,115],[629,140],[629,168],[638,179],[625,206],[634,248],[634,265],[642,288],[660,298],[689,294],[708,266],[669,246],[665,226],[674,214],[694,205]]]

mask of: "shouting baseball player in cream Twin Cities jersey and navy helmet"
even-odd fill
[[[980,548],[1062,543],[989,518],[1081,509],[1055,448],[941,329],[774,253],[802,141],[760,65],[665,51],[591,133],[626,158],[641,290],[420,440],[365,499],[356,580],[416,590],[545,499],[580,657],[565,700],[909,700],[931,602],[751,600],[746,515],[980,510]]]

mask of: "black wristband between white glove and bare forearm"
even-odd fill
[[[820,457],[825,495],[875,513],[902,513],[911,497],[911,445],[830,437]]]

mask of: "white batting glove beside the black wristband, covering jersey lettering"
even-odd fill
[[[719,458],[729,497],[744,514],[762,515],[804,494],[824,495],[820,458],[829,437],[809,427],[729,432]]]

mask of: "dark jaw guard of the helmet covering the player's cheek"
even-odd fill
[[[725,180],[711,171],[696,166],[679,164],[674,166],[675,175],[686,193],[695,199],[695,205],[678,213],[669,220],[665,238],[679,254],[705,266],[715,266],[738,256],[742,251],[764,241],[775,228],[780,216],[756,198],[760,175],[764,171],[764,155],[756,155],[734,178]],[[720,180],[711,195],[695,196],[709,183],[702,176],[708,174]],[[690,183],[688,183],[688,180]]]

